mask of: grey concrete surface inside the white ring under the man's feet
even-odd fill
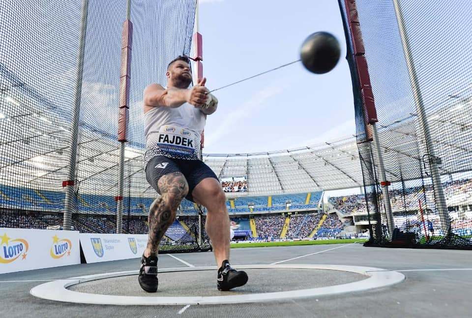
[[[237,266],[235,266],[237,267]],[[91,294],[119,296],[228,296],[261,292],[289,291],[352,283],[366,279],[361,274],[323,269],[245,269],[246,285],[231,291],[216,289],[216,270],[159,273],[157,293],[141,289],[136,275],[106,278],[69,287]]]

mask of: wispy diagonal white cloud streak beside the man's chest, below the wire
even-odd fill
[[[252,116],[257,110],[267,106],[266,101],[271,97],[280,94],[282,87],[270,86],[266,87],[258,93],[251,96],[249,100],[237,107],[234,111],[228,113],[225,119],[220,121],[216,129],[211,129],[211,134],[205,136],[205,146],[208,147],[221,140],[226,135],[232,134],[233,130],[228,127],[233,127],[235,122],[241,122],[241,119]]]

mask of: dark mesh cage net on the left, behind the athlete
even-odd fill
[[[129,3],[133,31],[123,147],[118,105],[127,4],[1,1],[0,227],[148,232],[148,208],[157,194],[144,173],[143,90],[150,83],[165,86],[167,64],[189,55],[195,0]],[[64,224],[67,212],[70,226]],[[184,200],[177,215],[161,249],[207,246],[200,207]]]

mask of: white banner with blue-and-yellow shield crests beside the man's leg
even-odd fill
[[[79,236],[88,263],[138,258],[148,243],[147,234],[80,233]]]

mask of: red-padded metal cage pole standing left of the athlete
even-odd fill
[[[117,233],[122,232],[123,220],[123,187],[124,187],[124,159],[126,133],[129,117],[129,85],[131,71],[131,45],[133,38],[133,24],[131,23],[131,0],[126,1],[126,20],[123,23],[121,36],[121,68],[119,75],[119,105],[118,105],[118,142],[119,145],[119,167],[118,167],[118,196],[117,202]],[[128,198],[129,200],[129,198]]]

